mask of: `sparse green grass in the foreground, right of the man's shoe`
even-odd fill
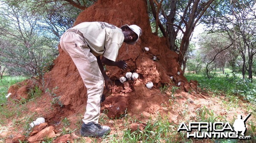
[[[120,132],[111,132],[111,135],[102,137],[101,143],[192,143],[192,140],[186,139],[183,132],[177,132],[178,125],[168,121],[167,117],[158,116],[156,120],[149,119],[145,123],[144,129],[137,129],[131,132],[128,125],[131,123],[141,123],[138,120],[130,121],[129,116],[126,116],[124,121],[128,121],[124,129]],[[127,119],[127,120],[126,120]],[[131,123],[130,123],[131,122]],[[125,123],[124,123],[125,124]],[[118,127],[119,128],[119,127]],[[91,138],[91,143],[97,143],[97,138]],[[74,143],[87,143],[84,138],[79,138]]]

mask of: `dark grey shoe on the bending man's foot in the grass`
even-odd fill
[[[101,126],[98,123],[83,123],[80,129],[80,134],[83,137],[102,137],[105,134],[108,134],[111,131],[109,126]]]

